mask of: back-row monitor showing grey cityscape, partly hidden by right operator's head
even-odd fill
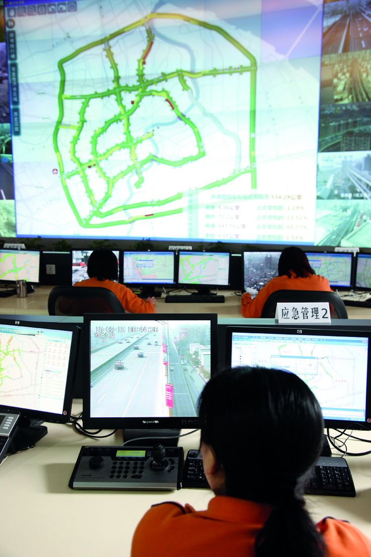
[[[281,251],[244,251],[243,288],[260,290],[278,275]]]

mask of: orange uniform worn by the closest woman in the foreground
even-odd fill
[[[253,557],[256,535],[270,512],[269,505],[222,495],[205,511],[173,502],[155,505],[136,527],[131,557]],[[371,541],[348,522],[328,518],[317,527],[328,557],[371,557]]]

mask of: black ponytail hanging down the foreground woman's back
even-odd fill
[[[296,497],[276,505],[255,540],[256,557],[325,557],[320,532],[305,509],[303,498]]]

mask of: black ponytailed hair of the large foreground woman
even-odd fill
[[[224,495],[272,505],[256,557],[324,557],[305,509],[304,486],[323,446],[321,408],[296,375],[232,368],[214,375],[199,400],[201,442],[225,476]]]

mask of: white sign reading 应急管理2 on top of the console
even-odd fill
[[[331,323],[329,302],[279,302],[278,323]]]

